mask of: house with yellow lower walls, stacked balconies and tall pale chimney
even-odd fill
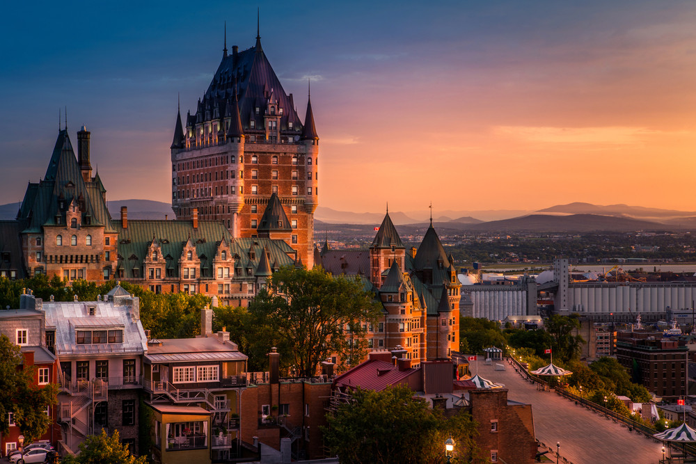
[[[239,429],[247,356],[230,342],[230,333],[212,333],[212,310],[201,310],[200,326],[196,338],[148,340],[143,358],[152,454],[163,464],[256,456]]]

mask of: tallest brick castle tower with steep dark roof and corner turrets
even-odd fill
[[[225,40],[227,42],[227,40]],[[261,47],[223,48],[222,61],[171,145],[172,209],[189,220],[223,221],[232,237],[255,237],[274,193],[290,221],[289,244],[314,264],[319,136],[309,96],[304,123]],[[274,207],[277,208],[274,200]],[[268,225],[265,225],[266,227]]]

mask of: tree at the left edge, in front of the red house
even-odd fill
[[[51,426],[45,410],[56,404],[58,387],[34,385],[34,369],[22,367],[24,356],[6,335],[0,335],[0,359],[0,432],[8,433],[8,413],[13,413],[19,433],[31,443]]]

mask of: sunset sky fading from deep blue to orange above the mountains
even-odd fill
[[[104,4],[102,4],[104,3]],[[693,1],[11,2],[0,29],[0,204],[44,175],[67,106],[108,200],[171,200],[180,95],[264,51],[319,133],[342,211],[696,211]]]

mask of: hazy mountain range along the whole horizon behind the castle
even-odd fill
[[[174,218],[171,205],[153,200],[116,200],[107,203],[112,218],[120,216],[120,208],[128,208],[131,219]],[[13,219],[19,203],[0,205],[0,219]],[[429,211],[391,211],[396,225],[424,226]],[[318,207],[318,224],[379,225],[384,213],[338,211]],[[629,232],[634,230],[696,230],[696,211],[646,208],[629,205],[592,205],[574,202],[555,205],[538,211],[521,210],[448,210],[432,218],[436,227],[471,232]]]

